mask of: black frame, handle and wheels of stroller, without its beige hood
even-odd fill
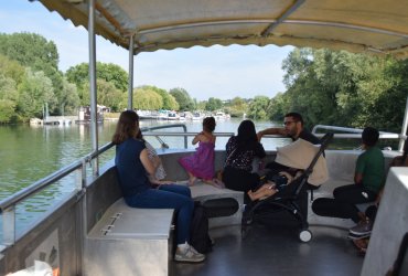
[[[243,214],[241,237],[245,238],[251,224],[259,220],[266,221],[268,217],[276,216],[277,212],[287,212],[291,214],[300,226],[299,238],[302,242],[312,240],[312,233],[309,231],[308,223],[308,179],[316,164],[319,157],[328,148],[333,134],[325,134],[321,139],[321,145],[313,157],[309,167],[294,179],[289,185],[278,193],[249,203]]]

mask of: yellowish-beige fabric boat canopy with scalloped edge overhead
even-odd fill
[[[87,1],[40,0],[75,25]],[[96,0],[95,31],[133,54],[275,44],[408,56],[408,0]]]

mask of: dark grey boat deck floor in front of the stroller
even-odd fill
[[[173,274],[182,275],[359,275],[364,256],[347,240],[345,230],[310,226],[313,238],[302,243],[296,227],[251,226],[243,240],[240,226],[213,229],[213,252],[200,264],[173,262]]]

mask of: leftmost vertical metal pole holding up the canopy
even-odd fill
[[[98,150],[98,118],[97,118],[97,93],[96,93],[96,43],[95,43],[95,0],[88,1],[88,43],[89,43],[89,93],[90,93],[90,138],[93,152]],[[93,160],[93,173],[99,172],[98,158]]]

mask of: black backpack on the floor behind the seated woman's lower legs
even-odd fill
[[[208,235],[208,217],[205,208],[200,202],[194,202],[194,213],[190,229],[190,244],[200,253],[212,251],[213,244]]]

